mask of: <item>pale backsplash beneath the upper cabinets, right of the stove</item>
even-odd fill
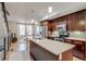
[[[70,37],[86,38],[86,31],[69,31]]]

